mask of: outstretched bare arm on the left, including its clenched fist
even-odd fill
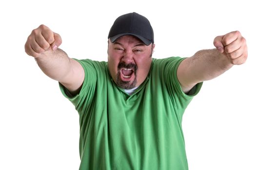
[[[72,94],[79,92],[84,80],[84,70],[74,59],[60,50],[59,34],[40,25],[28,36],[25,51],[35,57],[41,70],[50,78],[59,81]]]

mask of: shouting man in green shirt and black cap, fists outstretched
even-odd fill
[[[80,121],[80,170],[188,170],[182,115],[202,85],[246,61],[238,31],[217,36],[216,49],[189,58],[153,59],[154,33],[137,13],[116,19],[108,62],[71,59],[59,34],[41,25],[25,44]]]

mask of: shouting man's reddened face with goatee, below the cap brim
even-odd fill
[[[109,40],[108,67],[114,82],[121,88],[131,89],[146,79],[152,62],[155,44],[146,46],[132,35]]]

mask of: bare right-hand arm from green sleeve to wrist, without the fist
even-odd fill
[[[214,79],[232,66],[230,59],[217,49],[201,50],[180,63],[177,77],[182,90],[188,92],[197,83]]]

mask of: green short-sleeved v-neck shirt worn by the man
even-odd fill
[[[79,113],[79,170],[188,170],[182,115],[193,94],[182,92],[177,67],[184,58],[153,59],[146,80],[130,96],[106,62],[78,60],[85,79],[78,95],[63,95]]]

